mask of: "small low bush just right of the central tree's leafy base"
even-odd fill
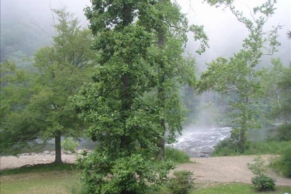
[[[190,171],[176,171],[172,178],[169,179],[168,187],[172,194],[189,194],[194,189],[192,178],[193,173]]]

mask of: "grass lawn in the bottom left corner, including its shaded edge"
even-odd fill
[[[1,194],[71,194],[74,164],[37,164],[1,172]]]

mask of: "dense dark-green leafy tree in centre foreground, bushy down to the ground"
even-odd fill
[[[142,22],[155,19],[147,12],[154,4],[92,0],[86,8],[99,65],[94,82],[74,99],[90,125],[90,137],[98,141],[94,152],[80,160],[85,193],[143,193],[161,183],[172,167],[148,157],[162,137],[161,109],[150,95],[156,84],[150,51],[154,34]]]

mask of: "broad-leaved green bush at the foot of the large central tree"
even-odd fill
[[[167,179],[172,162],[156,162],[141,154],[110,160],[95,149],[87,157],[78,158],[82,168],[83,194],[142,194],[157,190]]]

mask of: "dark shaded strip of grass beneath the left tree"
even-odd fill
[[[23,173],[40,173],[40,172],[50,172],[50,171],[71,171],[76,169],[75,164],[63,163],[63,164],[36,164],[32,166],[20,167],[15,169],[5,169],[1,171],[0,175],[15,175]]]

